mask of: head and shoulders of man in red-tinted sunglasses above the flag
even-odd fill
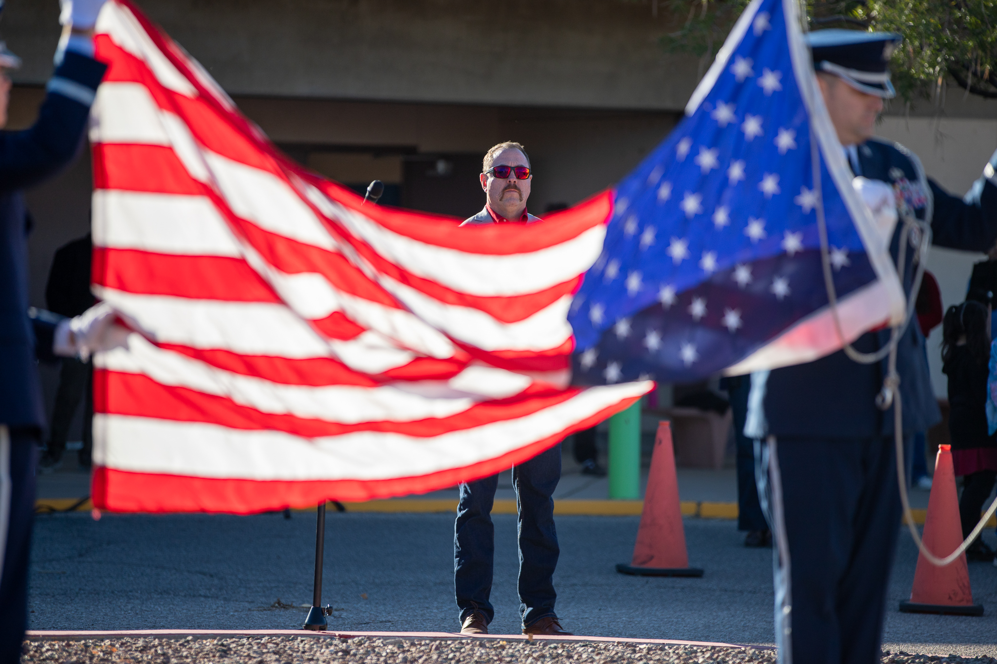
[[[485,154],[483,166],[479,178],[487,196],[485,209],[465,220],[462,226],[540,220],[526,212],[533,175],[522,145],[511,141],[498,143]]]

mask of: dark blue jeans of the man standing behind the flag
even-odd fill
[[[560,444],[512,468],[519,546],[519,616],[523,627],[554,613],[553,574],[560,549],[554,530],[553,493],[560,480]],[[454,525],[454,586],[463,622],[473,611],[495,617],[492,595],[495,526],[492,505],[498,475],[461,485]]]

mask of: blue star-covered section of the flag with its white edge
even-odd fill
[[[605,249],[569,317],[579,381],[774,368],[900,320],[890,230],[877,230],[852,188],[797,0],[751,3],[686,115],[616,187]]]

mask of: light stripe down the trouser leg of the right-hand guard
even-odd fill
[[[783,480],[779,468],[779,449],[775,436],[763,443],[755,441],[755,481],[758,498],[766,520],[772,525],[775,547],[772,550],[772,578],[775,586],[776,645],[780,664],[793,664],[793,585],[791,581],[790,545],[786,538],[786,513],[783,509]]]

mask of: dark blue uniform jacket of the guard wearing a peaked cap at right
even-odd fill
[[[981,178],[966,199],[947,193],[924,177],[917,156],[897,143],[869,140],[858,149],[861,175],[882,180],[903,193],[918,218],[931,223],[933,243],[940,247],[985,252],[997,239],[997,186]],[[899,229],[893,235],[892,254],[899,251]],[[906,265],[913,260],[908,246]],[[905,270],[903,287],[909,294],[912,270]],[[888,330],[868,332],[854,343],[871,352],[889,341]],[[886,359],[859,364],[837,351],[814,362],[775,369],[765,395],[768,433],[776,436],[869,437],[893,432],[893,411],[875,406],[886,374]],[[924,352],[924,335],[916,317],[897,348],[903,433],[924,431],[941,419]]]

